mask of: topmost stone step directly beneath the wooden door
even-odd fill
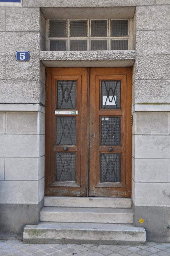
[[[131,208],[131,198],[45,196],[44,206]]]

